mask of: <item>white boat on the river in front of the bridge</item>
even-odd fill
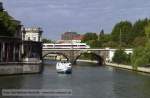
[[[72,72],[72,66],[70,62],[57,62],[56,64],[56,70],[58,73],[71,73]]]

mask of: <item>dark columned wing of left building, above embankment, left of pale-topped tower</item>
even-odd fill
[[[0,2],[0,11],[8,14],[3,9],[3,3]],[[9,14],[8,14],[9,16]],[[16,23],[16,32],[8,36],[0,31],[0,62],[19,62],[22,60],[22,39],[21,39],[21,22],[9,16],[10,20]],[[7,35],[7,36],[6,36]]]

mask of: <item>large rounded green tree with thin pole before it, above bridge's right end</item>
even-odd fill
[[[111,32],[112,41],[116,43],[121,41],[125,44],[130,44],[132,39],[131,35],[132,23],[129,21],[121,21],[117,23]]]

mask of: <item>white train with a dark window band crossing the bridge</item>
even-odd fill
[[[61,43],[61,44],[53,44],[53,43],[44,43],[43,49],[87,49],[90,48],[86,43]]]

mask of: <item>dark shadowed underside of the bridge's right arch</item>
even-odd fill
[[[96,54],[96,53],[93,53],[93,52],[91,52],[91,53],[88,53],[88,52],[80,53],[80,54],[74,59],[74,63],[76,63],[77,60],[78,60],[78,59],[81,57],[81,55],[83,55],[83,54],[92,54],[92,57],[93,57],[95,60],[98,61],[98,64],[99,64],[99,65],[103,65],[103,64],[104,64],[104,58],[103,58],[102,56]]]

